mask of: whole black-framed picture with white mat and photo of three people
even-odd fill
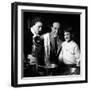
[[[87,83],[87,6],[11,6],[11,85]]]

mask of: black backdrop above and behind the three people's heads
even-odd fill
[[[61,39],[63,39],[63,30],[67,27],[73,28],[74,40],[80,47],[80,14],[65,13],[65,12],[44,12],[44,11],[25,11],[23,12],[23,36],[24,43],[28,37],[30,31],[31,21],[35,17],[41,17],[43,20],[42,33],[50,32],[51,24],[53,21],[59,21],[61,23]],[[24,47],[25,48],[25,47]]]

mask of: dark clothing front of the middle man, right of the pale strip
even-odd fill
[[[58,64],[58,55],[61,50],[62,41],[59,37],[54,38],[50,33],[50,62]]]

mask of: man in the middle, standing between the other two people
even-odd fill
[[[51,32],[44,35],[45,63],[47,68],[55,68],[58,65],[62,41],[59,38],[60,23],[53,22]]]

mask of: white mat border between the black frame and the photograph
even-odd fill
[[[42,10],[42,11],[57,11],[57,12],[73,12],[81,13],[80,15],[80,38],[81,38],[81,75],[75,76],[48,76],[48,77],[30,77],[23,78],[21,75],[21,11],[22,10]],[[36,84],[36,83],[51,83],[51,82],[67,82],[67,81],[83,81],[85,80],[85,9],[74,8],[55,8],[44,6],[18,6],[18,84]]]

